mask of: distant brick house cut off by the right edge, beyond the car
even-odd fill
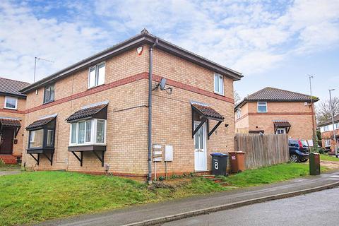
[[[318,124],[321,133],[321,145],[323,148],[330,149],[331,154],[335,154],[335,143],[339,147],[339,115],[333,117],[334,119],[334,134],[333,138],[333,124],[332,119],[328,119],[321,124]]]

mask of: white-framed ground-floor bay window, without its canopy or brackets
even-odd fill
[[[91,121],[91,130],[90,130],[90,142],[86,142],[86,126],[87,124],[85,123],[85,136],[84,136],[84,143],[78,143],[78,132],[79,132],[79,123],[85,122],[85,121]],[[102,120],[105,121],[105,129],[104,129],[104,143],[97,143],[97,120]],[[72,142],[72,124],[76,124],[76,143],[71,143]],[[80,121],[75,121],[70,124],[69,126],[69,145],[70,146],[81,146],[81,145],[106,145],[106,134],[107,134],[107,120],[106,119],[85,119],[85,120],[80,120]]]

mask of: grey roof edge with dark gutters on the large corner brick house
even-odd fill
[[[215,73],[220,73],[223,76],[227,76],[232,78],[234,81],[240,80],[242,78],[242,73],[229,69],[225,66],[221,66],[220,64],[216,64],[213,61],[210,61],[204,57],[198,56],[193,52],[189,52],[186,49],[182,49],[175,44],[162,40],[160,37],[150,34],[147,30],[142,30],[140,34],[135,35],[124,42],[120,42],[113,47],[105,49],[102,52],[99,52],[91,57],[83,59],[76,64],[66,67],[61,71],[57,71],[46,78],[42,78],[40,81],[32,83],[26,88],[23,88],[21,92],[28,93],[30,90],[34,90],[39,88],[42,85],[48,85],[49,83],[54,83],[60,78],[68,76],[71,73],[79,71],[81,69],[85,69],[88,66],[97,64],[101,61],[109,59],[110,57],[114,57],[117,54],[121,54],[122,52],[126,52],[135,47],[140,47],[143,44],[153,45],[155,41],[157,42],[156,48],[161,49],[165,52],[169,52],[177,57],[181,57],[186,59],[187,61],[191,61],[194,64],[198,64],[200,66],[205,67],[206,69],[210,69],[211,71],[215,71]]]

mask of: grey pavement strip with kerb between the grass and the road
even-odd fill
[[[89,226],[89,225],[153,225],[155,222],[149,221],[150,219],[171,219],[171,216],[180,215],[182,218],[191,216],[187,213],[196,213],[201,215],[208,208],[215,208],[218,206],[232,205],[232,208],[238,206],[239,203],[260,199],[262,201],[272,200],[282,194],[297,192],[298,194],[305,194],[307,192],[299,192],[305,189],[314,189],[319,186],[338,186],[339,185],[339,172],[331,174],[322,174],[321,176],[304,177],[300,179],[293,179],[288,182],[280,182],[277,184],[268,184],[266,186],[257,186],[249,189],[237,189],[233,191],[225,191],[217,194],[209,194],[206,196],[194,196],[191,198],[183,198],[175,201],[166,201],[162,203],[153,203],[142,206],[133,206],[131,208],[124,208],[119,210],[112,210],[105,213],[97,213],[92,215],[78,215],[72,218],[61,220],[52,220],[44,222],[40,225],[62,225],[62,226]],[[321,190],[321,189],[318,189]],[[316,189],[312,190],[316,191]],[[234,204],[235,203],[235,204]],[[238,204],[237,204],[238,203]],[[250,202],[246,203],[249,204]],[[253,202],[252,202],[253,203]],[[257,202],[258,203],[258,202]],[[225,210],[225,208],[223,209]],[[184,215],[182,214],[184,213]],[[209,212],[210,213],[210,212]],[[178,218],[177,218],[178,219]],[[158,221],[158,222],[165,222]],[[138,223],[136,223],[138,222]]]

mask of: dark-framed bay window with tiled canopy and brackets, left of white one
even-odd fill
[[[52,114],[33,121],[26,127],[26,130],[29,131],[28,148],[26,150],[37,162],[37,165],[40,163],[41,154],[47,157],[51,165],[53,164],[56,123],[57,114]],[[37,154],[37,157],[33,154]]]

